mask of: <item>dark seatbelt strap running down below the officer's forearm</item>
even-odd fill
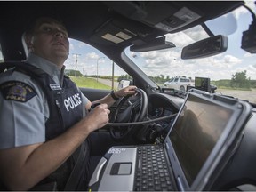
[[[64,188],[65,191],[75,191],[77,184],[80,180],[81,174],[84,173],[83,163],[85,163],[84,158],[86,156],[86,151],[88,150],[88,148],[86,148],[85,146],[86,144],[87,142],[85,140],[80,147],[79,156],[77,157],[76,164],[72,172],[70,173],[68,181],[65,185],[65,188]]]

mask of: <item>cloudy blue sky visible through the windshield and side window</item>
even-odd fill
[[[246,4],[255,12],[253,1],[247,1]],[[236,17],[238,22],[237,24],[236,22],[234,23],[235,29],[233,29],[236,30],[235,33],[229,34],[230,32],[226,30],[228,50],[218,55],[196,60],[180,59],[181,47],[184,44],[193,43],[193,39],[197,37],[204,37],[200,28],[190,31],[190,36],[185,36],[184,34],[166,36],[166,40],[175,44],[176,48],[140,53],[130,52],[129,49],[126,49],[125,52],[148,76],[188,76],[193,79],[195,76],[202,76],[210,77],[211,80],[220,80],[231,79],[236,72],[246,70],[248,77],[256,79],[256,54],[245,52],[240,48],[242,34],[245,30],[248,30],[252,22],[252,15],[242,7],[231,16],[227,15],[226,17],[229,22],[232,17]],[[227,25],[225,22],[220,23],[219,20],[216,20],[215,23],[212,21],[212,23],[217,34],[219,29],[223,29]],[[77,62],[75,57],[77,57]],[[70,52],[65,63],[66,68],[77,68],[84,75],[96,75],[98,72],[100,76],[111,76],[112,64],[112,60],[109,60],[107,56],[90,45],[70,40]],[[114,66],[115,75],[126,74],[122,68],[119,68],[116,64]]]

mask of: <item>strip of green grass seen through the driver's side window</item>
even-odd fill
[[[111,90],[110,86],[106,84],[100,84],[100,82],[97,82],[93,78],[87,78],[84,76],[77,76],[77,77],[69,76],[69,77],[78,87]]]

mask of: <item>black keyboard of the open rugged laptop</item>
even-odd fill
[[[134,191],[171,191],[172,182],[163,146],[148,145],[137,149]]]

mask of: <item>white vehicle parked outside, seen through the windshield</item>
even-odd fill
[[[190,78],[184,76],[172,77],[169,81],[164,83],[164,87],[176,89],[185,92],[187,86],[194,86],[195,84],[191,81]]]

